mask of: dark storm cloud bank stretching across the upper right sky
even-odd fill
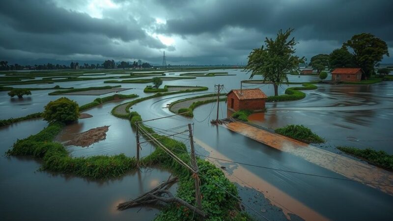
[[[392,0],[218,0],[186,7],[162,32],[180,35],[220,33],[227,27],[254,28],[265,34],[295,28],[299,39],[341,40],[371,32],[393,40]]]

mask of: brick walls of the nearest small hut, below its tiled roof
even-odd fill
[[[266,99],[250,99],[250,100],[239,100],[234,93],[230,93],[227,96],[226,107],[232,109],[233,99],[233,110],[264,110]]]

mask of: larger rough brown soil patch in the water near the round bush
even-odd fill
[[[75,145],[86,147],[100,140],[104,140],[107,137],[107,131],[109,126],[97,127],[88,131],[82,132],[75,135],[70,141],[66,142],[65,145]]]

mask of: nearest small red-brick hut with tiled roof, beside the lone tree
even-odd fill
[[[227,108],[231,111],[265,110],[266,94],[259,88],[231,90],[226,94]]]

